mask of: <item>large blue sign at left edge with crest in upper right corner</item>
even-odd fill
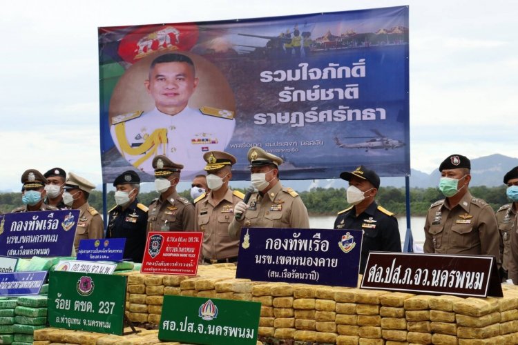
[[[79,210],[7,213],[0,216],[0,255],[70,256]]]

